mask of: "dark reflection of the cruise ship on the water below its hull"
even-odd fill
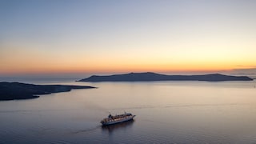
[[[109,133],[112,133],[114,130],[127,130],[130,129],[133,126],[133,124],[134,119],[127,122],[117,123],[114,125],[102,126],[102,131],[108,131]]]

